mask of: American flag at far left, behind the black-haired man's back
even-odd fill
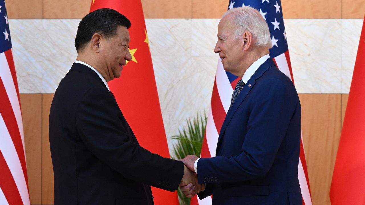
[[[0,204],[30,204],[19,89],[4,0],[0,0]]]

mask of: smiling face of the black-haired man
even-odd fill
[[[118,26],[116,35],[104,38],[103,41],[103,45],[100,46],[100,54],[103,55],[104,69],[111,80],[119,78],[126,61],[132,59],[128,49],[130,42],[128,29]]]

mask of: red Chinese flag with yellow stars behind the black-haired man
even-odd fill
[[[141,0],[91,1],[90,12],[100,8],[114,9],[132,23],[129,29],[132,60],[124,66],[120,78],[108,83],[110,90],[139,144],[170,158]],[[178,204],[176,192],[152,187],[152,193],[155,204]]]

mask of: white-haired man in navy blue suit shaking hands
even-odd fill
[[[242,78],[219,133],[216,156],[187,156],[213,205],[299,205],[301,107],[291,80],[270,58],[269,28],[251,7],[227,11],[215,53],[226,71]],[[191,197],[191,185],[182,190]]]

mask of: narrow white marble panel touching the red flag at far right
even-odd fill
[[[341,93],[349,93],[359,46],[362,19],[341,20]]]

